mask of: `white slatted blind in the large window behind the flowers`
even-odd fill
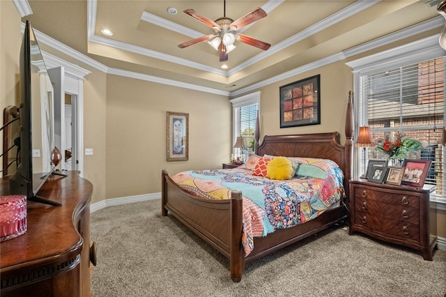
[[[393,139],[403,132],[422,142],[423,150],[408,158],[431,160],[425,183],[436,185],[437,195],[444,195],[445,57],[381,69],[359,78],[359,125],[368,125],[374,139],[387,135]],[[367,158],[386,156],[371,148]],[[358,165],[361,167],[360,162]]]

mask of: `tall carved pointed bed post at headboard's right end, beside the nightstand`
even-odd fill
[[[345,144],[345,151],[346,151],[346,162],[349,165],[346,167],[345,174],[345,190],[347,199],[349,197],[348,195],[348,181],[353,178],[353,134],[355,132],[355,122],[353,119],[353,93],[352,91],[348,91],[348,104],[347,104],[347,114],[346,114],[346,144]],[[348,201],[347,201],[348,202]]]

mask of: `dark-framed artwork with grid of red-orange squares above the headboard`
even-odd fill
[[[279,88],[280,128],[321,123],[321,75]]]

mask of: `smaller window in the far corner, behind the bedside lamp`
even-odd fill
[[[256,131],[256,118],[259,114],[260,92],[231,100],[233,109],[233,144],[239,136],[245,137],[247,150],[243,150],[245,160],[247,155],[254,153],[254,133]],[[240,156],[240,148],[233,148],[233,154]]]

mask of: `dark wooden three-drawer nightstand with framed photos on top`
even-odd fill
[[[350,230],[389,243],[420,250],[432,261],[437,245],[435,212],[429,211],[429,195],[435,187],[350,181]]]

